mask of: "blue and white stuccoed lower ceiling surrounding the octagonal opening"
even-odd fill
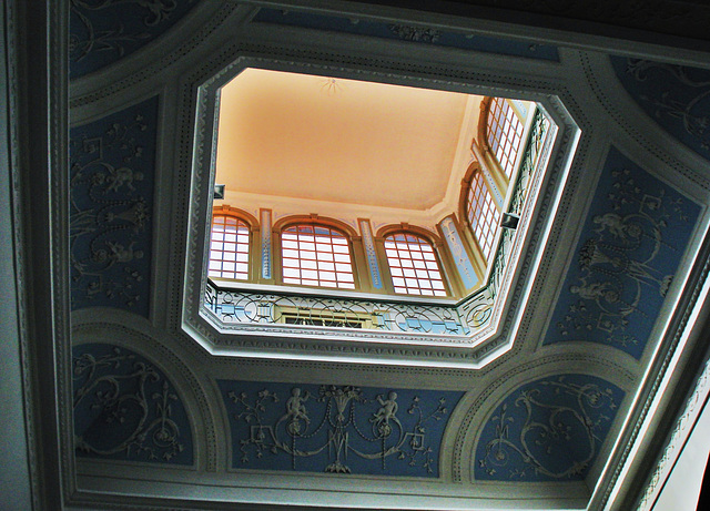
[[[73,351],[57,361],[65,509],[628,510],[640,491],[648,509],[662,464],[643,435],[677,412],[653,392],[692,346],[688,318],[707,276],[696,258],[710,191],[708,72],[509,28],[491,37],[470,19],[427,27],[405,10],[284,3],[65,4],[71,192],[55,197],[70,202],[69,254],[58,256],[71,268]],[[618,12],[619,24],[637,23]],[[541,242],[521,269],[537,277],[513,286],[503,357],[481,369],[347,364],[336,350],[284,361],[210,354],[183,330],[185,275],[202,267],[185,264],[192,164],[211,151],[192,146],[196,91],[237,60],[518,95],[575,120],[581,132],[557,144],[577,152],[546,183],[560,192],[538,209],[530,236]]]

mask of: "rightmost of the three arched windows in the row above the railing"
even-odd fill
[[[410,233],[385,237],[385,252],[395,293],[446,296],[444,277],[432,244]]]

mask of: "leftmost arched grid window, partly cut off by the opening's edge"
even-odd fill
[[[210,277],[248,279],[248,225],[230,215],[212,217]]]

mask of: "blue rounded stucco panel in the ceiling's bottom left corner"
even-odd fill
[[[80,345],[72,376],[78,456],[192,464],[185,407],[149,360],[112,345]]]

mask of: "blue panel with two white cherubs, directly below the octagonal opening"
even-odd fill
[[[232,466],[438,477],[444,428],[464,392],[220,381]]]

